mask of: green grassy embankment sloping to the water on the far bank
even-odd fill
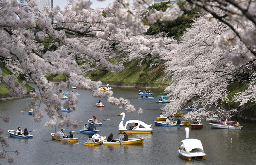
[[[115,64],[119,59],[111,59],[111,63]],[[110,81],[122,83],[138,83],[138,84],[157,84],[158,86],[167,85],[171,79],[162,80],[166,75],[164,72],[164,65],[159,65],[149,70],[149,63],[143,63],[141,66],[139,62],[127,62],[124,64],[125,69],[122,72],[106,72],[104,70],[94,70],[86,74],[86,77],[93,81]],[[104,69],[104,68],[102,68]],[[46,78],[57,82],[64,80],[63,75],[53,75],[48,73]]]

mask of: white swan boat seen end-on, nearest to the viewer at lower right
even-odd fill
[[[206,154],[204,153],[204,148],[200,140],[189,139],[189,128],[185,128],[186,139],[180,142],[180,147],[178,152],[180,156],[186,160],[191,159],[205,159]]]

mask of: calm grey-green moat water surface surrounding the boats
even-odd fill
[[[256,124],[239,121],[244,126],[242,130],[221,130],[211,129],[209,122],[202,121],[204,128],[200,130],[190,130],[189,138],[199,139],[204,147],[204,152],[207,154],[206,159],[198,159],[186,161],[182,159],[177,150],[180,141],[185,139],[184,127],[160,127],[154,125],[155,117],[161,113],[160,108],[163,104],[155,103],[155,100],[139,100],[137,88],[119,88],[113,89],[114,96],[119,98],[129,98],[131,104],[136,109],[143,108],[143,113],[125,113],[124,124],[128,120],[136,119],[146,124],[152,124],[153,132],[151,134],[129,134],[129,138],[144,137],[145,141],[140,145],[116,145],[95,147],[68,144],[62,142],[53,142],[50,133],[55,133],[55,127],[45,127],[44,123],[47,117],[44,117],[42,122],[35,123],[32,116],[28,113],[21,113],[20,110],[29,110],[27,103],[30,98],[23,98],[11,101],[0,101],[0,116],[8,114],[11,116],[9,123],[0,122],[1,128],[5,129],[4,135],[8,137],[7,130],[16,130],[21,127],[22,130],[35,130],[31,132],[32,139],[16,139],[7,138],[10,144],[7,151],[19,150],[20,154],[15,156],[15,165],[63,165],[63,164],[113,164],[113,165],[159,165],[159,164],[186,164],[186,165],[210,165],[210,164],[254,164],[254,155],[256,152],[256,143],[254,136],[256,135]],[[67,91],[67,90],[66,90]],[[78,110],[69,113],[71,119],[79,121],[87,121],[92,116],[96,116],[99,120],[111,119],[102,122],[102,127],[96,127],[100,130],[99,135],[108,137],[113,133],[114,139],[119,139],[122,134],[118,130],[118,125],[121,122],[122,116],[117,116],[123,109],[117,106],[112,106],[104,98],[101,98],[105,108],[97,108],[95,104],[99,98],[93,98],[90,91],[82,89],[78,91],[80,96]],[[151,89],[153,96],[157,97],[163,90]],[[44,106],[40,107],[44,110]],[[182,111],[187,113],[186,111]],[[44,113],[44,116],[47,116]],[[80,130],[84,123],[79,125],[79,128],[64,127],[65,132],[70,130]],[[56,129],[60,131],[61,128]],[[79,139],[79,142],[88,139],[89,135],[76,132],[74,137]],[[230,142],[230,139],[232,143]],[[245,159],[246,158],[246,159]],[[6,164],[6,160],[0,159],[0,164]]]

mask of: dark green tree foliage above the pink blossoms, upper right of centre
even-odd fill
[[[152,6],[148,7],[148,9],[156,9],[166,11],[168,8],[168,2],[163,2],[159,5],[153,4]],[[174,37],[176,40],[179,40],[180,37],[186,32],[187,28],[191,27],[191,23],[193,23],[194,19],[198,17],[198,8],[195,8],[191,11],[186,10],[184,6],[185,2],[179,1],[177,5],[183,10],[183,15],[178,17],[176,20],[172,21],[157,21],[150,25],[150,28],[145,33],[145,35],[157,35],[159,32],[166,32],[168,37]]]

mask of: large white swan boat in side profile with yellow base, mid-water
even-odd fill
[[[118,130],[120,131],[120,133],[151,133],[153,130],[151,128],[151,124],[148,125],[144,122],[141,122],[140,120],[129,120],[125,123],[125,125],[123,125],[125,113],[122,112],[118,116],[122,116],[122,120],[118,126]],[[133,128],[134,125],[136,125],[137,127]]]

